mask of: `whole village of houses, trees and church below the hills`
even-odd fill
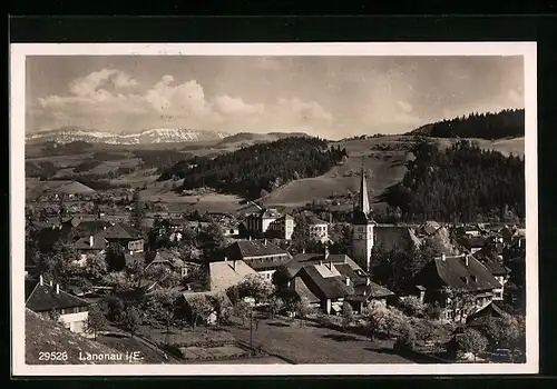
[[[342,221],[59,181],[27,207],[28,315],[149,363],[524,362],[524,220],[377,222],[365,173]]]

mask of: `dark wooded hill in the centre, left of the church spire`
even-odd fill
[[[256,199],[289,181],[321,176],[345,154],[319,138],[289,137],[213,159],[194,157],[165,170],[159,180],[177,177],[184,179],[177,190],[211,187]]]

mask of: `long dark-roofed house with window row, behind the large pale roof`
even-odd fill
[[[229,260],[242,260],[264,278],[271,280],[281,266],[290,262],[292,257],[267,239],[238,240],[225,249]]]

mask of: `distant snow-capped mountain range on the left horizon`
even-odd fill
[[[155,128],[133,133],[114,133],[94,129],[66,127],[29,134],[26,137],[26,143],[41,143],[49,141],[57,143],[82,141],[88,143],[107,144],[179,143],[219,140],[228,136],[229,133],[223,131],[172,128]]]

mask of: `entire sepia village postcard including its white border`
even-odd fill
[[[536,44],[11,47],[25,375],[538,371]]]

